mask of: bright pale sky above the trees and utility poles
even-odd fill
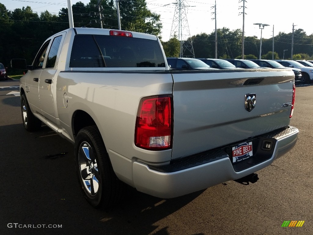
[[[13,11],[16,8],[30,6],[33,12],[48,10],[50,13],[58,13],[61,8],[67,7],[67,1],[53,0],[0,0],[8,10]],[[157,14],[161,15],[163,25],[162,40],[167,41],[170,38],[172,22],[175,13],[175,2],[179,0],[146,0],[147,7]],[[214,12],[214,0],[182,0],[185,4],[186,16],[189,25],[190,35],[200,33],[210,34],[215,30],[215,21],[211,18]],[[78,1],[73,1],[72,4]],[[81,0],[87,4],[90,1]],[[188,6],[188,7],[187,7]],[[243,27],[243,9],[239,9],[243,3],[239,0],[216,0],[217,28],[226,27],[230,30],[242,29]],[[245,36],[257,36],[260,38],[261,30],[254,23],[269,24],[262,30],[262,38],[273,37],[280,31],[285,33],[292,32],[292,24],[295,29],[303,29],[307,35],[313,33],[310,13],[313,6],[312,0],[246,0],[245,3]],[[75,24],[74,24],[75,26]],[[296,36],[296,35],[295,35]]]

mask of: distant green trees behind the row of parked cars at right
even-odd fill
[[[189,38],[192,41],[194,55],[196,58],[215,57],[215,31],[210,34],[201,33]],[[274,59],[291,58],[292,33],[279,32],[274,36]],[[226,27],[217,29],[217,54],[218,58],[241,59],[242,30],[230,30]],[[172,38],[163,43],[164,51],[169,57],[179,56],[180,42]],[[260,39],[257,36],[244,38],[245,59],[259,59]],[[284,55],[284,50],[285,55]],[[272,59],[273,38],[262,39],[262,59]],[[303,29],[294,32],[293,59],[309,59],[313,57],[313,34],[306,35]]]

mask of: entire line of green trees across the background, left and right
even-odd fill
[[[178,57],[180,42],[177,37],[165,41],[161,38],[160,15],[151,12],[145,0],[120,1],[121,28],[123,30],[154,34],[160,37],[166,56]],[[72,5],[75,27],[100,28],[97,0]],[[114,0],[105,0],[100,6],[103,28],[118,29],[117,10]],[[30,64],[45,39],[69,27],[68,9],[60,9],[58,14],[47,10],[38,14],[27,6],[13,11],[0,3],[0,62],[9,67],[12,58],[25,58]],[[218,58],[241,58],[242,30],[217,29]],[[279,32],[274,37],[274,58],[291,56],[292,33]],[[215,32],[193,35],[192,41],[196,58],[214,58]],[[262,58],[272,59],[273,39],[262,39]],[[260,40],[257,36],[245,37],[245,58],[259,58]],[[294,32],[293,59],[308,59],[313,56],[313,34],[307,35],[303,29]]]

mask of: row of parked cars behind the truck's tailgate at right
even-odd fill
[[[313,62],[313,61],[312,61]],[[295,81],[313,82],[313,63],[307,60],[241,60],[241,59],[208,59],[208,58],[176,58],[168,57],[167,63],[172,69],[292,69]]]

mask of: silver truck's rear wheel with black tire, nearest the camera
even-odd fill
[[[96,126],[78,132],[74,155],[78,181],[88,203],[95,208],[114,205],[122,196],[125,185],[113,171]]]

